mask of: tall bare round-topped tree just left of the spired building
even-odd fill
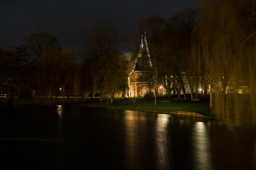
[[[117,40],[117,30],[114,26],[104,22],[93,24],[87,31],[85,52],[86,57],[89,57],[92,62],[91,73],[94,86],[100,91],[100,102],[107,94],[114,96],[116,91],[114,87],[119,85],[119,82],[112,79],[115,77],[113,73],[117,72],[119,57]],[[113,89],[108,89],[110,87]]]

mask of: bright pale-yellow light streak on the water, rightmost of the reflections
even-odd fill
[[[193,127],[193,154],[196,169],[213,169],[210,140],[204,122],[196,122]]]

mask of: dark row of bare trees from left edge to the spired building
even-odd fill
[[[129,53],[118,50],[117,30],[95,23],[85,36],[84,60],[75,62],[76,51],[63,49],[53,35],[38,31],[24,38],[24,45],[0,49],[1,103],[18,98],[100,96],[119,91],[124,96],[129,74]]]

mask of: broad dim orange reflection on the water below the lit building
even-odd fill
[[[154,125],[156,114],[124,111],[125,169],[152,169],[156,161],[151,150],[156,147]]]

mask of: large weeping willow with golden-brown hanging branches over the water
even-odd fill
[[[256,15],[252,0],[205,0],[192,55],[217,118],[256,125]]]

